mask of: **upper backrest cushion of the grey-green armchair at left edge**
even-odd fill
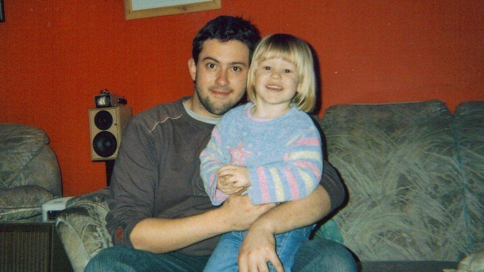
[[[34,126],[0,124],[0,188],[12,180],[47,145],[44,131]]]

